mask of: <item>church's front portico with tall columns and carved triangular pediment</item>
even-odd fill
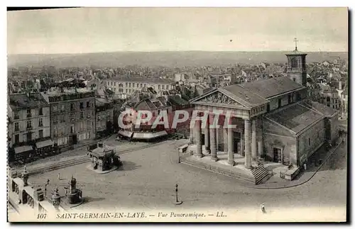
[[[217,162],[220,160],[219,155],[225,154],[227,164],[232,167],[236,165],[235,157],[243,157],[244,162],[239,161],[239,163],[251,169],[252,161],[258,160],[256,119],[266,111],[267,101],[260,96],[246,94],[247,100],[255,97],[258,102],[251,105],[246,101],[230,99],[226,96],[228,91],[223,91],[226,94],[218,90],[212,92],[214,93],[211,94],[211,98],[207,96],[200,101],[192,101],[197,113],[194,129],[196,131],[195,155],[197,157],[208,155],[210,160]],[[205,125],[201,127],[203,123]],[[202,129],[204,130],[203,147],[200,137]],[[204,148],[203,154],[202,148]]]

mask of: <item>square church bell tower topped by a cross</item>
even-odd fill
[[[295,50],[286,54],[288,57],[287,75],[293,81],[307,86],[306,53],[297,50],[297,39],[295,38]]]

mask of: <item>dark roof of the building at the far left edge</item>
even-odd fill
[[[35,108],[49,106],[40,93],[11,94],[9,105],[11,108]]]

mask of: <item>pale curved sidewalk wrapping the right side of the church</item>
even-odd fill
[[[346,145],[346,140],[344,140],[344,145]],[[307,170],[300,172],[300,174],[295,177],[292,181],[288,181],[286,179],[281,179],[279,174],[274,174],[273,177],[268,179],[264,184],[258,184],[255,186],[248,186],[253,189],[286,189],[294,186],[299,186],[301,184],[305,184],[307,181],[310,181],[312,177],[322,168],[322,166],[329,160],[329,157],[332,157],[333,153],[342,146],[342,140],[339,140],[339,143],[332,147],[332,149],[325,152],[324,147],[320,147],[317,152],[315,152],[309,160],[309,164],[307,164]],[[322,164],[314,164],[314,160],[322,160]]]

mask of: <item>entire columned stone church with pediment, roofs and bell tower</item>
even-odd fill
[[[195,123],[190,132],[195,155],[217,161],[224,152],[231,166],[236,164],[234,155],[242,156],[247,169],[261,161],[301,167],[322,145],[333,144],[338,111],[307,99],[306,55],[297,45],[286,54],[287,77],[216,88],[192,99],[195,110],[209,111],[209,123],[215,116],[211,111],[222,111],[220,128]],[[227,112],[235,128],[224,128]]]

